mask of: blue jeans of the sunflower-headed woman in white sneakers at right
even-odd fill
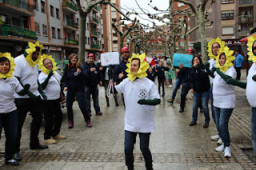
[[[230,146],[229,121],[232,112],[233,109],[222,109],[214,106],[216,126],[224,147]]]

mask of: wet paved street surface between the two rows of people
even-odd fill
[[[246,81],[246,72],[242,70],[242,81]],[[157,82],[156,82],[157,85]],[[178,89],[174,105],[167,102],[173,87],[166,85],[166,97],[162,97],[160,105],[154,107],[156,131],[150,136],[150,150],[154,159],[154,169],[256,169],[256,165],[244,150],[251,148],[250,113],[251,108],[246,101],[246,90],[235,88],[236,108],[230,117],[230,140],[232,157],[226,159],[223,153],[215,152],[218,147],[210,136],[216,135],[214,122],[209,128],[202,128],[203,113],[198,113],[198,125],[190,127],[192,119],[193,95],[186,99],[184,113],[179,113],[180,91]],[[110,98],[110,107],[106,107],[104,88],[99,87],[99,105],[102,116],[95,116],[92,105],[92,128],[86,128],[78,103],[74,102],[74,128],[67,128],[66,108],[63,111],[61,134],[66,140],[58,140],[50,144],[48,149],[30,150],[30,115],[22,129],[21,155],[23,160],[18,167],[4,165],[4,142],[0,141],[0,169],[92,169],[114,170],[127,169],[124,158],[124,115],[121,95],[118,94],[119,106]],[[209,105],[210,108],[210,105]],[[44,121],[42,121],[39,140],[43,143]],[[146,169],[139,139],[134,148],[135,170]]]

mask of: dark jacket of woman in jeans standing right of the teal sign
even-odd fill
[[[201,65],[201,69],[204,70],[205,65]],[[190,88],[194,89],[195,92],[206,92],[210,89],[210,80],[208,74],[198,73],[198,70],[192,69],[190,77]]]

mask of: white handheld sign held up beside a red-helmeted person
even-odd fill
[[[106,65],[119,65],[119,53],[101,53],[102,66]]]

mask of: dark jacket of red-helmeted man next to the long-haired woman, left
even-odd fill
[[[83,64],[83,67],[86,69],[86,86],[88,87],[96,87],[99,84],[99,81],[102,81],[101,71],[98,69],[97,65],[90,66],[89,63],[86,61]],[[94,72],[91,72],[91,68],[96,68]]]

